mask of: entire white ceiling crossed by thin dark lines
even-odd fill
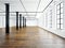
[[[5,12],[4,3],[10,3],[10,12],[35,12],[22,13],[24,15],[36,15],[42,12],[51,0],[0,0],[0,12]]]

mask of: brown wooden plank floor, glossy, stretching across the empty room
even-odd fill
[[[10,35],[1,29],[0,48],[65,48],[65,39],[38,27],[11,28]]]

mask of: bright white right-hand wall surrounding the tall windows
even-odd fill
[[[61,2],[63,2],[64,6],[65,6],[65,0],[54,0],[41,15],[38,15],[38,16],[40,16],[38,26],[40,28],[43,28],[43,29],[65,38],[65,30],[64,30],[65,28],[63,30],[56,29],[56,5]],[[49,27],[50,10],[52,10],[52,28]],[[64,10],[65,10],[65,7],[64,7]],[[64,20],[65,20],[65,11],[64,11]],[[64,22],[64,27],[65,27],[65,22]]]

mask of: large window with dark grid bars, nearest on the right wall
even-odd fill
[[[56,7],[57,16],[57,29],[63,29],[63,3],[60,3]]]

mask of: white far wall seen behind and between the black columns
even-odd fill
[[[23,18],[22,18],[23,19]],[[26,20],[26,26],[27,27],[32,27],[37,26],[38,19],[27,19]],[[15,27],[16,26],[16,17],[15,16],[10,16],[10,27]],[[20,21],[18,21],[20,26]],[[22,26],[23,26],[23,20],[22,20]],[[5,28],[5,17],[0,16],[0,28]]]

